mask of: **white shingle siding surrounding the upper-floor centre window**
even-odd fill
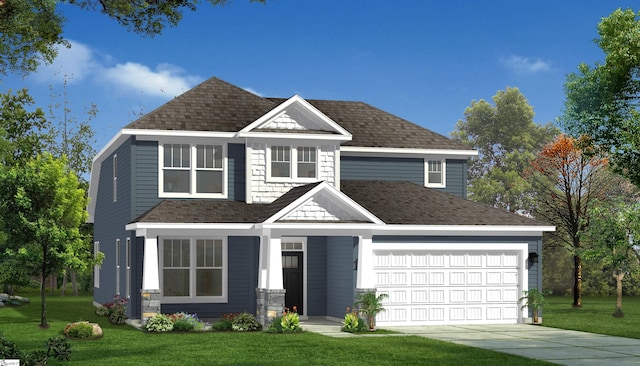
[[[250,144],[251,148],[251,202],[271,203],[291,188],[307,184],[307,182],[268,182],[267,181],[267,145]],[[335,186],[336,146],[318,146],[317,164],[318,178],[315,181],[326,181]]]

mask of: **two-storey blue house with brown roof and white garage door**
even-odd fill
[[[94,301],[265,324],[293,306],[342,318],[375,289],[381,325],[523,322],[554,228],[466,200],[474,155],[365,103],[209,79],[95,157]]]

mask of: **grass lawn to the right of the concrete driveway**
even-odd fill
[[[615,318],[615,297],[582,298],[582,308],[573,308],[573,297],[548,296],[543,308],[543,325],[620,337],[639,338],[640,297],[623,297],[623,318]]]

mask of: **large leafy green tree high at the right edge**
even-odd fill
[[[568,133],[610,157],[614,171],[640,187],[640,13],[614,11],[598,24],[604,63],[578,66],[565,82]]]

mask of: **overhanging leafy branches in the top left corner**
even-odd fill
[[[207,0],[224,5],[226,0]],[[266,0],[251,0],[264,3]],[[165,26],[176,26],[185,10],[195,11],[202,0],[0,0],[0,74],[33,72],[40,60],[51,63],[63,38],[64,17],[56,5],[67,3],[100,11],[128,30],[153,37]]]

